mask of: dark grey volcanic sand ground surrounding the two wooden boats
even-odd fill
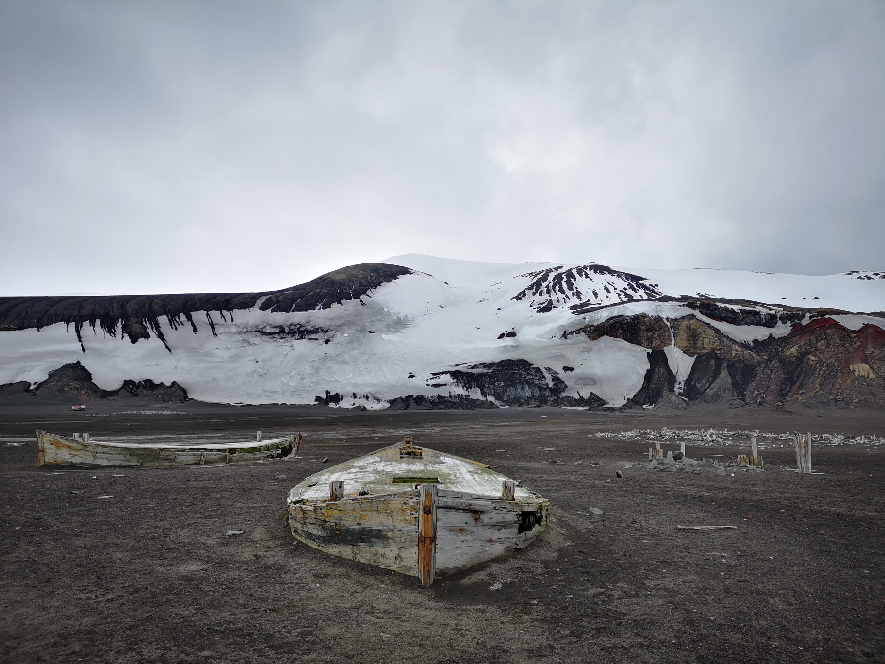
[[[883,448],[815,450],[826,476],[778,472],[793,463],[784,450],[765,452],[765,473],[627,469],[616,480],[620,462],[643,459],[649,445],[587,436],[663,426],[885,436],[881,414],[354,413],[193,403],[122,410],[4,408],[0,437],[27,438],[38,428],[93,436],[212,430],[244,438],[256,429],[265,436],[302,431],[305,459],[168,470],[37,468],[33,443],[0,444],[0,660],[883,657]],[[349,459],[404,435],[539,490],[550,499],[550,529],[526,551],[430,591],[412,577],[292,544],[282,522],[291,486],[319,470],[323,457]],[[541,463],[550,459],[545,447],[562,450],[555,456],[566,463]],[[705,447],[695,455],[735,452]],[[584,463],[574,466],[579,459]],[[62,475],[48,475],[55,472]],[[97,498],[104,495],[113,498]],[[603,514],[589,513],[591,506]],[[738,529],[675,528],[722,523]],[[231,529],[245,532],[226,537]]]

